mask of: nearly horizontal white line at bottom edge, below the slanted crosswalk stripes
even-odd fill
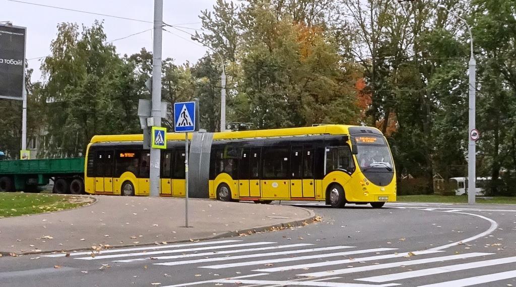
[[[316,282],[316,281],[277,281],[277,280],[249,280],[249,279],[219,279],[212,280],[210,283],[234,283],[234,284],[260,284],[269,285],[277,284],[281,286],[319,286],[319,287],[389,287],[397,286],[397,283],[382,284],[382,285],[371,285],[371,284],[357,284],[357,283],[338,283],[338,282]],[[173,286],[185,286],[185,285],[173,285]],[[166,286],[171,287],[171,286]]]

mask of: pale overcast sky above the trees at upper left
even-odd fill
[[[23,2],[56,6],[95,13],[116,15],[132,19],[151,21],[154,17],[153,0],[22,0]],[[200,11],[212,10],[215,0],[164,0],[163,21],[171,25],[200,28]],[[107,16],[72,12],[47,8],[8,0],[0,0],[0,22],[11,21],[15,26],[27,27],[27,59],[47,56],[50,42],[55,39],[57,24],[61,22],[91,26],[95,20],[104,20],[104,31],[108,41],[119,39],[151,29],[153,24],[115,19]],[[192,24],[193,23],[193,24]],[[193,43],[185,32],[168,27],[173,34],[163,32],[163,58],[173,58],[176,64],[186,61],[195,63],[206,52],[206,48]],[[192,29],[182,28],[194,33]],[[121,55],[138,52],[142,47],[152,49],[152,31],[147,31],[127,39],[115,41]],[[182,39],[180,37],[185,39]],[[33,80],[40,79],[39,60],[30,60],[29,67],[35,69]]]

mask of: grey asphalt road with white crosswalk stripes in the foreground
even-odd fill
[[[516,286],[516,206],[300,206],[322,221],[94,257],[4,257],[0,285]]]

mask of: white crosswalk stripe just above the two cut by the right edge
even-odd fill
[[[429,250],[429,251],[432,251],[432,250]],[[400,267],[400,266],[441,262],[441,261],[446,261],[446,260],[465,259],[465,258],[486,256],[486,255],[493,255],[493,254],[494,253],[466,253],[466,254],[459,254],[459,255],[448,255],[448,256],[441,256],[441,257],[417,259],[417,260],[411,260],[411,261],[399,261],[399,262],[391,262],[391,263],[384,263],[384,264],[378,264],[378,265],[351,267],[351,268],[346,268],[346,269],[329,270],[329,271],[314,272],[314,273],[305,273],[305,274],[299,274],[298,276],[307,276],[307,277],[334,276],[334,275],[380,270],[380,269]],[[364,260],[361,258],[357,258],[356,261],[364,261]]]

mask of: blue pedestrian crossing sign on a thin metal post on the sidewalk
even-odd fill
[[[188,132],[195,132],[196,102],[174,103],[174,130],[185,133],[185,227],[188,226]]]

